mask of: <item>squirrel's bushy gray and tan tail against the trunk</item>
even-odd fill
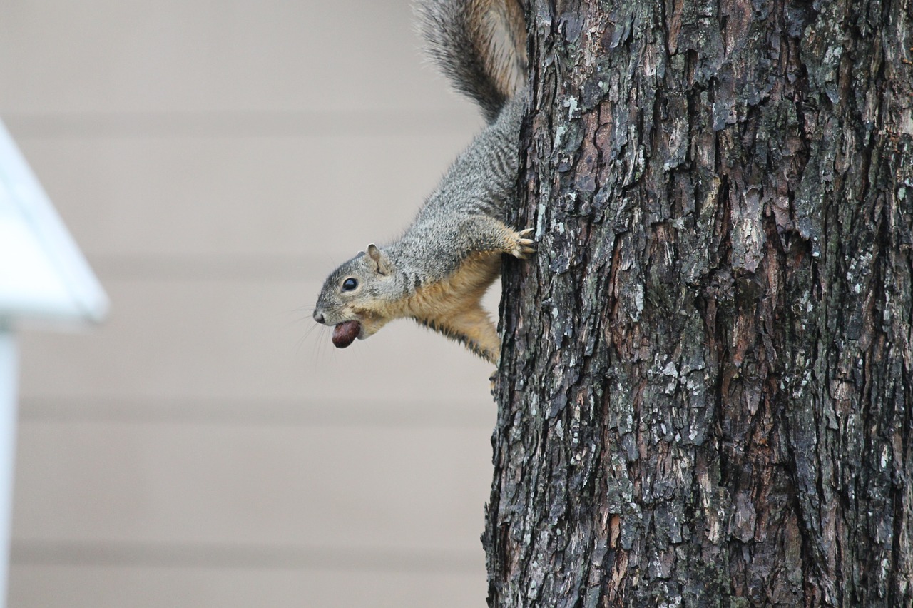
[[[519,0],[419,0],[428,55],[488,122],[526,84],[526,23]]]

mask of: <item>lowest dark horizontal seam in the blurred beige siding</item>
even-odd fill
[[[484,567],[485,555],[481,550],[14,540],[10,563],[13,566],[477,572]]]

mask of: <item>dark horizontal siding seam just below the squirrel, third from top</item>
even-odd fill
[[[479,382],[484,382],[484,379]],[[490,405],[490,410],[488,409]],[[495,404],[278,400],[138,400],[22,397],[23,423],[131,425],[245,425],[342,428],[485,429],[495,424]]]

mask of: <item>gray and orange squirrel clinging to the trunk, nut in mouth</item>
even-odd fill
[[[498,331],[480,300],[500,275],[502,254],[523,259],[534,250],[531,229],[504,222],[519,171],[523,9],[519,0],[422,0],[418,14],[431,58],[477,102],[488,127],[399,240],[369,245],[331,273],[314,320],[334,326],[333,344],[345,348],[409,317],[497,363]]]

